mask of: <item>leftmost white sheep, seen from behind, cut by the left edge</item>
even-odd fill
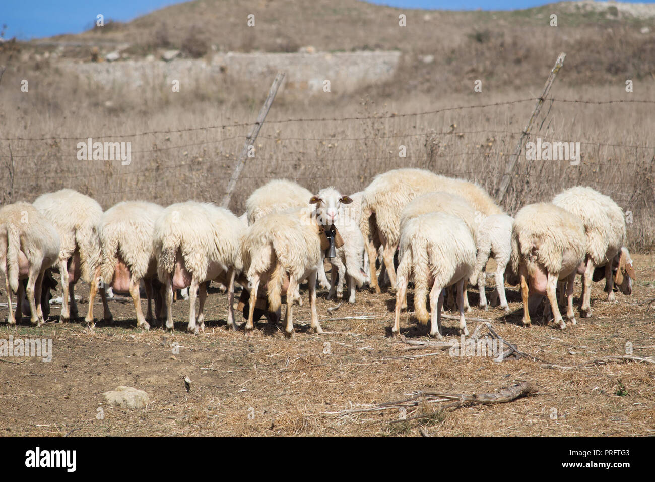
[[[0,208],[0,270],[5,277],[9,325],[15,325],[16,318],[22,317],[23,284],[20,280],[25,278],[28,278],[25,291],[30,321],[33,325],[43,325],[41,285],[45,271],[58,262],[60,248],[56,228],[33,205],[14,203]],[[16,293],[17,300],[15,317],[12,292]]]

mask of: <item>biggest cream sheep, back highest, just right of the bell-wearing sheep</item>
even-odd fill
[[[380,292],[380,287],[375,277],[375,236],[383,246],[384,265],[392,286],[395,286],[393,260],[400,239],[400,215],[409,201],[431,191],[447,191],[464,197],[480,216],[502,212],[489,194],[472,182],[439,176],[423,169],[395,169],[378,174],[364,190],[360,224],[369,254],[371,287],[376,292]]]

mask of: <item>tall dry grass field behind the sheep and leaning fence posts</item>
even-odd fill
[[[20,85],[21,78],[22,73],[7,71],[3,84]],[[0,140],[3,201],[31,201],[40,193],[62,187],[91,195],[105,209],[123,199],[147,199],[162,205],[189,198],[220,201],[250,130],[243,123],[256,117],[269,80],[260,79],[253,90],[228,82],[173,93],[154,88],[124,91],[121,86],[94,90],[75,77],[35,73],[28,94],[0,90],[3,137],[54,138]],[[236,94],[231,98],[224,89]],[[536,92],[540,90],[483,90],[434,100],[422,94],[358,98],[335,92],[298,98],[294,92],[282,90],[257,139],[256,157],[248,161],[238,182],[231,208],[241,212],[246,197],[274,177],[297,180],[310,190],[333,184],[354,192],[375,174],[398,167],[422,167],[474,180],[493,193],[534,101],[429,115],[403,114],[511,102],[534,97]],[[653,101],[652,92],[644,89],[638,98]],[[551,93],[555,98],[603,101],[637,97],[612,87],[571,89],[557,81]],[[653,148],[645,148],[655,130],[650,110],[652,104],[547,104],[529,140],[540,136],[579,141],[582,162],[571,166],[568,161],[526,161],[521,157],[504,207],[515,212],[527,203],[551,199],[563,188],[586,184],[632,213],[628,245],[651,249],[655,163]],[[307,117],[368,119],[276,122]],[[203,126],[225,127],[126,135]],[[100,136],[108,137],[98,139]],[[88,137],[132,142],[132,164],[78,161],[75,146]],[[400,146],[406,147],[406,158],[399,157]]]

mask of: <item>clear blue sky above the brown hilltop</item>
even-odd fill
[[[641,0],[653,3],[655,0]],[[0,0],[0,26],[5,38],[26,40],[59,33],[79,33],[90,28],[96,15],[105,20],[127,21],[181,3],[179,0]],[[540,0],[372,0],[371,3],[415,9],[513,10],[551,3]]]

